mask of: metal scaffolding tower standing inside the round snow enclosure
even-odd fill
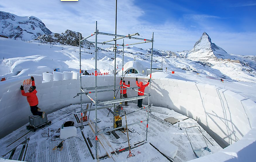
[[[82,70],[82,65],[81,65],[81,42],[85,41],[85,42],[90,42],[86,39],[88,39],[89,37],[92,37],[95,35],[95,42],[91,42],[91,43],[95,43],[95,87],[87,87],[87,88],[83,88],[82,87],[82,73],[81,73],[81,70]],[[108,40],[108,41],[104,41],[104,42],[98,42],[97,38],[98,38],[98,35],[108,35],[108,36],[114,36],[115,39],[113,40]],[[147,120],[143,120],[143,121],[139,121],[139,122],[135,122],[135,123],[131,123],[129,125],[134,125],[134,124],[138,124],[138,123],[141,123],[141,122],[145,122],[147,121],[147,129],[146,129],[146,141],[147,141],[147,135],[148,135],[148,117],[149,117],[149,108],[152,106],[150,105],[150,87],[151,87],[151,73],[152,73],[152,57],[153,57],[153,42],[154,42],[154,33],[152,33],[152,39],[149,40],[149,39],[142,39],[142,38],[136,38],[136,37],[132,37],[134,35],[139,35],[139,33],[135,33],[135,34],[132,34],[132,35],[126,35],[126,36],[123,36],[123,35],[117,35],[116,33],[115,34],[109,34],[109,33],[101,33],[98,31],[97,29],[97,22],[96,22],[96,27],[95,27],[95,32],[91,35],[89,35],[88,37],[85,37],[84,39],[81,39],[81,36],[79,37],[79,48],[80,48],[80,93],[77,94],[77,96],[80,95],[80,103],[81,103],[81,119],[82,119],[82,112],[83,112],[83,108],[82,108],[82,94],[85,94],[89,99],[91,99],[91,101],[93,101],[93,103],[95,103],[95,108],[93,109],[87,109],[87,111],[93,111],[95,110],[95,151],[96,151],[96,158],[98,160],[98,135],[99,134],[102,134],[102,133],[105,133],[105,132],[99,132],[97,131],[97,123],[98,123],[98,117],[97,117],[97,110],[99,109],[107,109],[109,107],[114,107],[114,121],[113,123],[115,124],[115,104],[116,103],[120,103],[120,102],[124,102],[124,101],[133,101],[133,100],[136,100],[136,99],[143,99],[145,98],[146,96],[148,96],[148,106],[146,107],[143,107],[141,109],[148,109],[148,113],[147,113]],[[119,38],[117,38],[119,37]],[[138,43],[133,43],[133,44],[124,44],[124,40],[123,40],[123,44],[117,44],[116,43],[116,40],[119,40],[119,39],[125,39],[125,38],[128,38],[128,39],[136,39],[136,40],[143,40],[144,42],[138,42]],[[102,87],[97,87],[97,52],[98,52],[98,49],[97,49],[97,44],[110,44],[110,43],[107,43],[107,42],[111,42],[111,41],[115,41],[115,44],[111,44],[111,45],[115,45],[115,72],[114,72],[114,85],[113,86],[102,86]],[[130,97],[130,98],[121,98],[121,99],[115,99],[115,96],[116,96],[116,90],[122,90],[123,88],[119,88],[119,89],[116,89],[116,85],[115,85],[115,81],[116,81],[116,51],[117,51],[117,45],[119,46],[122,46],[122,80],[124,79],[124,46],[129,46],[129,45],[134,45],[134,44],[141,44],[141,43],[148,43],[148,42],[152,42],[152,48],[151,48],[151,64],[150,64],[150,84],[149,84],[149,91],[148,91],[148,94],[144,93],[143,96],[135,96],[135,97]],[[119,86],[122,86],[122,87],[126,87],[124,86],[123,84],[119,85]],[[98,89],[104,89],[104,88],[111,88],[111,87],[114,87],[113,91],[114,91],[114,99],[113,100],[110,100],[110,101],[98,101],[97,100],[97,93],[98,92],[107,92],[107,91],[112,91],[112,90],[98,90]],[[134,88],[137,88],[137,87],[126,87],[126,88],[131,88],[132,90],[135,90]],[[84,90],[93,90],[94,89],[94,92],[85,92]],[[135,90],[137,92],[139,92],[138,90]],[[91,93],[94,93],[95,94],[95,99],[91,98],[91,96],[89,96],[89,94]],[[104,107],[97,107],[98,104],[103,104],[103,105],[106,105]],[[109,105],[110,104],[110,105]],[[117,104],[118,105],[118,104]],[[138,109],[138,110],[141,110],[141,109]],[[138,111],[138,110],[135,110],[134,112]],[[132,112],[130,112],[132,113]],[[130,114],[129,113],[129,114]],[[128,126],[129,126],[128,125]],[[123,127],[126,127],[126,126],[122,126],[122,127],[117,127],[115,128],[113,126],[113,129],[110,129],[108,130],[108,132],[111,132],[111,131],[114,131],[114,130],[117,130],[117,129],[121,129]],[[83,129],[83,122],[81,120],[81,129]]]

